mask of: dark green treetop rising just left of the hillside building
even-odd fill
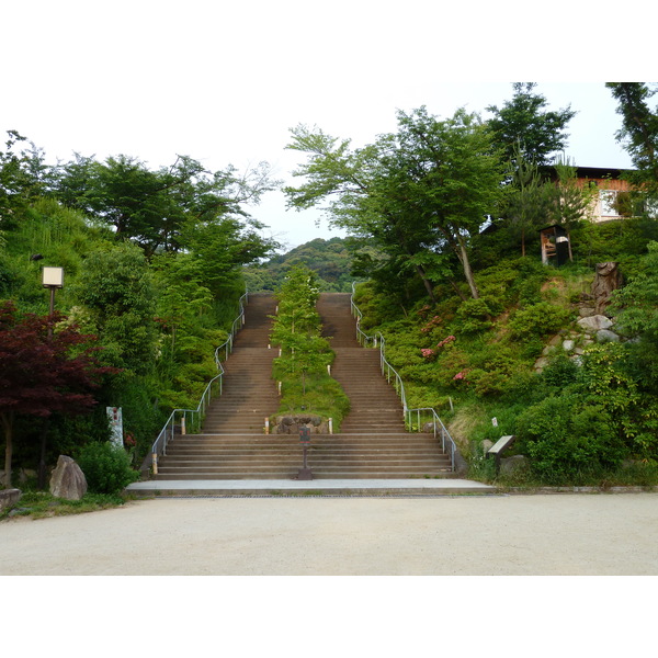
[[[514,95],[502,107],[489,105],[494,116],[488,126],[507,159],[514,161],[517,146],[521,155],[537,166],[549,164],[551,156],[563,151],[567,145],[566,126],[576,116],[571,106],[546,110],[545,97],[534,92],[536,82],[514,82]]]

